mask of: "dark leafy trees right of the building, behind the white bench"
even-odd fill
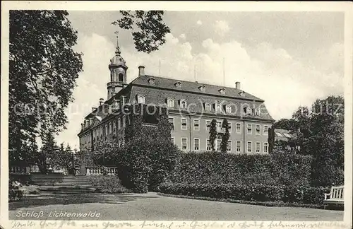
[[[342,184],[344,170],[344,107],[342,96],[328,96],[311,106],[299,107],[292,119],[281,119],[269,129],[268,142],[272,152],[274,128],[288,127],[297,136],[299,153],[311,155],[311,185]]]

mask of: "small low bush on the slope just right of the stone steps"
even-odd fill
[[[102,193],[126,193],[131,192],[121,185],[116,176],[88,176],[88,180],[92,186]]]

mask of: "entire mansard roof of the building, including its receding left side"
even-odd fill
[[[154,83],[150,84],[148,79],[153,78]],[[181,87],[175,86],[175,83],[181,83]],[[205,86],[205,90],[201,91],[200,86]],[[225,93],[221,93],[220,89],[225,89]],[[241,96],[239,93],[244,93]],[[131,83],[126,84],[114,97],[104,101],[104,104],[112,104],[114,100],[119,100],[121,95],[126,97],[125,103],[136,103],[136,95],[145,95],[146,104],[162,105],[165,104],[167,98],[174,99],[174,108],[169,110],[179,111],[178,101],[184,99],[188,105],[194,104],[190,107],[190,112],[200,112],[203,114],[215,114],[215,112],[205,112],[203,105],[205,102],[210,102],[212,105],[215,102],[220,102],[222,105],[232,105],[232,114],[234,117],[247,117],[249,119],[263,119],[265,121],[275,121],[268,110],[263,105],[263,100],[257,98],[254,95],[246,93],[243,90],[237,88],[229,88],[223,86],[215,86],[207,83],[191,82],[191,81],[180,81],[172,78],[163,78],[157,76],[138,76]],[[251,115],[245,115],[241,113],[241,105],[247,104],[250,106],[258,107],[261,106],[260,115],[254,117]],[[97,107],[95,112],[90,112],[85,119],[97,118],[99,122],[104,122],[104,119],[110,115],[102,112],[103,105]],[[233,112],[234,111],[234,112]],[[85,132],[86,129],[81,130],[80,133]]]

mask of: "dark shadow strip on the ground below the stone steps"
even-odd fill
[[[69,205],[69,204],[124,204],[136,199],[160,198],[159,196],[148,196],[138,194],[47,194],[38,196],[25,196],[20,201],[8,201],[8,210],[19,208],[30,208],[47,205]]]

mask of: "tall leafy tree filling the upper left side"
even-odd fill
[[[82,71],[66,11],[10,11],[9,149],[28,160],[31,142],[65,127],[64,109]]]

